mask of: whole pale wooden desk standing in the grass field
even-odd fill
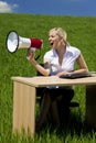
[[[13,80],[13,132],[35,133],[36,88],[46,86],[86,85],[86,120],[96,128],[96,76],[78,79],[58,77],[12,77]]]

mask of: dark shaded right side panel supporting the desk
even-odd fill
[[[86,121],[96,129],[96,85],[86,86]]]

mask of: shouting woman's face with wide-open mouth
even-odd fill
[[[61,37],[57,35],[56,31],[50,32],[49,42],[52,48],[57,48],[61,45]]]

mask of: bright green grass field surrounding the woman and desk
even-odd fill
[[[10,54],[6,48],[9,31],[14,30],[21,36],[40,37],[44,41],[44,53],[50,50],[47,33],[54,26],[62,26],[68,34],[68,42],[77,46],[88,65],[89,70],[96,70],[96,18],[55,16],[33,14],[0,14],[0,143],[95,143],[94,129],[85,124],[85,87],[75,87],[74,100],[79,108],[71,110],[71,124],[63,132],[49,128],[42,130],[33,139],[12,134],[13,92],[12,76],[35,76],[35,69],[26,61],[25,50]]]

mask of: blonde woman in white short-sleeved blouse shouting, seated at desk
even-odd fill
[[[87,72],[87,65],[83,58],[81,51],[71,46],[66,41],[66,32],[61,28],[54,28],[49,32],[49,42],[51,51],[44,55],[44,65],[42,67],[34,59],[34,53],[30,56],[31,64],[39,73],[44,76],[62,76],[72,73]],[[78,64],[79,69],[75,70],[75,64]],[[65,95],[65,96],[64,96]],[[72,87],[46,87],[43,92],[40,118],[36,123],[36,130],[42,127],[45,117],[51,109],[54,122],[60,125],[60,116],[57,110],[57,100],[64,99],[63,102],[67,105],[73,98]]]

